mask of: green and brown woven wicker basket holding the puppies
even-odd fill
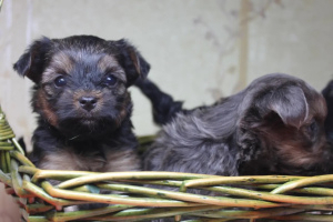
[[[150,221],[170,216],[175,221],[193,218],[189,221],[210,222],[236,219],[333,221],[333,189],[330,188],[333,175],[216,176],[37,169],[24,157],[1,109],[0,161],[0,181],[19,203],[22,219],[30,222]],[[60,184],[53,186],[49,180],[58,180]],[[161,189],[143,184],[158,184]],[[176,191],[170,191],[170,186]],[[101,189],[117,192],[99,194]],[[213,191],[218,195],[192,194],[188,189]],[[65,206],[85,203],[110,205],[63,211]]]

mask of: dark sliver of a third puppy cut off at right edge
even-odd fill
[[[325,131],[327,139],[333,143],[333,80],[322,91],[327,104],[327,118],[325,120]]]

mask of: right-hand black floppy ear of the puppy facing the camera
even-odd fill
[[[147,78],[150,64],[140,52],[127,40],[121,39],[113,42],[120,51],[120,63],[125,70],[128,87],[132,85],[138,78]]]

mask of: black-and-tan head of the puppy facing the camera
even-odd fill
[[[127,88],[150,65],[125,40],[74,36],[34,41],[13,68],[36,83],[34,111],[75,137],[119,128],[132,108]]]

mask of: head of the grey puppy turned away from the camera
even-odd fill
[[[255,83],[249,90],[251,105],[243,125],[261,143],[256,161],[262,161],[265,173],[329,172],[333,155],[324,132],[324,98],[289,75],[270,75]]]

